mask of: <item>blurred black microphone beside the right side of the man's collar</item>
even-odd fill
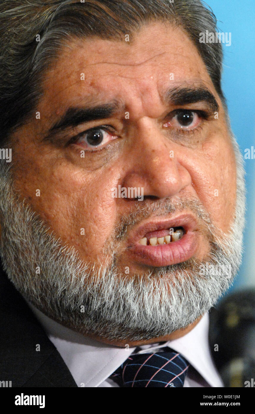
[[[210,310],[209,344],[224,387],[255,388],[255,289],[234,292]]]

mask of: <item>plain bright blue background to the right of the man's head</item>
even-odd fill
[[[232,129],[241,152],[255,148],[255,1],[207,0],[217,17],[218,31],[231,32],[231,46],[223,44],[222,89]],[[247,213],[243,264],[233,289],[255,287],[255,159],[245,160]]]

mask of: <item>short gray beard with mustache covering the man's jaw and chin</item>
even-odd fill
[[[244,227],[243,161],[237,161],[236,217],[228,234],[212,224],[198,200],[175,198],[152,202],[117,224],[104,248],[107,265],[84,263],[74,247],[60,238],[18,199],[9,168],[0,179],[1,256],[16,289],[48,317],[83,335],[108,340],[148,340],[179,330],[209,310],[229,288],[241,264]],[[120,272],[118,249],[127,229],[153,212],[162,216],[190,209],[200,219],[210,243],[203,261],[195,259],[144,274]],[[208,263],[207,274],[201,265]],[[128,265],[128,264],[127,264]],[[231,273],[225,272],[230,269]],[[223,271],[219,271],[223,269]],[[39,273],[40,272],[40,273]]]

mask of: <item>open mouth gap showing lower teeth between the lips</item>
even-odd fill
[[[183,227],[171,227],[169,229],[150,231],[140,239],[142,246],[162,246],[180,240],[185,234]]]

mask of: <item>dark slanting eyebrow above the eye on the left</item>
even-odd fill
[[[88,108],[68,108],[61,119],[48,130],[47,136],[43,138],[43,141],[51,139],[58,132],[67,128],[74,128],[85,122],[109,118],[117,110],[119,110],[119,104],[116,102]]]

